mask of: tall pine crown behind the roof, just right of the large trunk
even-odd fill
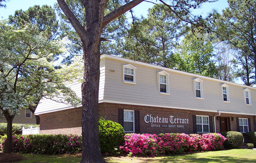
[[[149,9],[148,18],[135,20],[116,46],[124,58],[173,68],[174,50],[187,26],[164,4]]]

